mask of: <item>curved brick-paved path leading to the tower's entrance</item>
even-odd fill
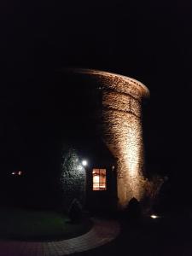
[[[59,256],[90,250],[119,235],[119,223],[93,219],[93,228],[83,236],[62,241],[0,241],[1,256]]]

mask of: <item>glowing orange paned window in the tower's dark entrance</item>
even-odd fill
[[[106,169],[93,169],[93,190],[106,190]]]

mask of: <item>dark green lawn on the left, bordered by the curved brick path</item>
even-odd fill
[[[0,209],[1,239],[53,241],[80,236],[90,230],[91,223],[83,219],[72,224],[58,212],[19,208]]]

